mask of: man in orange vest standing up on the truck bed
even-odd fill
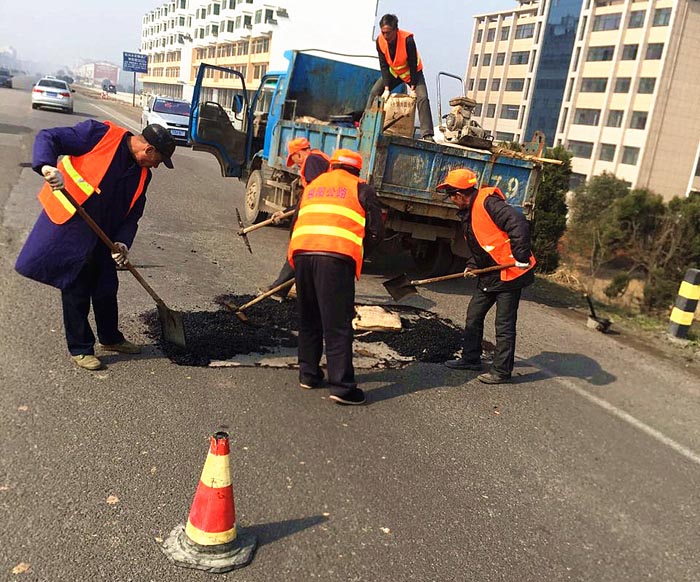
[[[416,98],[422,139],[435,141],[423,61],[418,54],[413,33],[399,28],[399,19],[395,14],[382,16],[379,30],[376,45],[382,76],[372,86],[366,108],[369,109],[380,95],[386,101],[393,89],[405,83],[408,94]]]

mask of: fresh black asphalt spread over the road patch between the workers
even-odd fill
[[[146,335],[162,352],[181,366],[208,366],[212,360],[230,360],[241,354],[266,354],[278,348],[295,348],[299,320],[296,301],[281,303],[263,300],[245,310],[247,322],[241,321],[225,306],[243,305],[251,295],[219,295],[217,311],[191,311],[182,314],[186,348],[163,339],[158,312],[142,314]],[[462,329],[434,313],[404,305],[383,306],[401,317],[399,332],[361,331],[359,342],[383,342],[396,353],[418,362],[444,362],[454,357],[462,341]]]

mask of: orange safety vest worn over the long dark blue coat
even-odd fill
[[[58,162],[57,167],[63,174],[64,188],[80,206],[85,204],[85,201],[95,192],[101,193],[100,182],[107,173],[114,159],[114,154],[127,131],[109,121],[103,123],[109,129],[94,148],[82,156],[63,156]],[[129,210],[134,207],[136,201],[143,194],[147,176],[148,170],[141,168],[141,177]],[[64,224],[76,213],[73,205],[61,191],[52,190],[48,183],[44,184],[39,192],[39,202],[54,224]]]

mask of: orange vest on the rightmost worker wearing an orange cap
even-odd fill
[[[471,219],[472,230],[476,237],[479,246],[484,249],[491,258],[499,265],[512,263],[513,251],[510,248],[510,239],[508,234],[503,232],[489,216],[484,203],[486,198],[491,194],[496,194],[506,199],[503,193],[498,188],[481,188],[472,204]],[[537,261],[534,255],[530,254],[530,267],[528,269],[519,269],[517,267],[509,267],[500,272],[501,281],[512,281],[532,269]]]

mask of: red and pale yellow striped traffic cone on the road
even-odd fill
[[[187,525],[177,525],[161,546],[178,566],[220,573],[247,566],[253,559],[255,536],[236,531],[228,456],[228,433],[217,432],[210,439]]]

